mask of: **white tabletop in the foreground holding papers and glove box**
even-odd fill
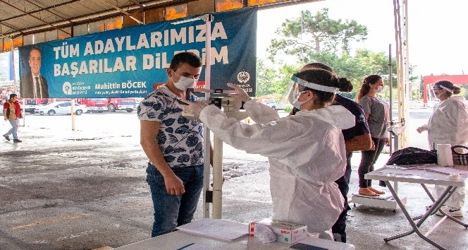
[[[248,226],[245,225],[245,230],[247,231]],[[209,239],[202,236],[197,236],[195,234],[187,234],[185,232],[171,232],[168,234],[163,234],[159,237],[154,237],[151,239],[145,239],[142,242],[136,242],[129,244],[127,246],[121,246],[117,249],[119,250],[144,250],[144,249],[157,249],[157,250],[176,250],[180,249],[187,244],[201,244],[204,246],[210,247],[219,247],[222,249],[232,249],[232,250],[283,250],[289,249],[292,244],[286,244],[281,242],[272,242],[272,243],[261,243],[257,237],[245,235],[240,237],[240,239],[234,242],[221,242],[216,239]],[[317,239],[313,237],[308,237],[303,239],[301,243],[309,244],[312,246],[319,246],[328,250],[355,250],[355,246],[352,244],[346,244],[341,242],[332,242],[326,239]]]

